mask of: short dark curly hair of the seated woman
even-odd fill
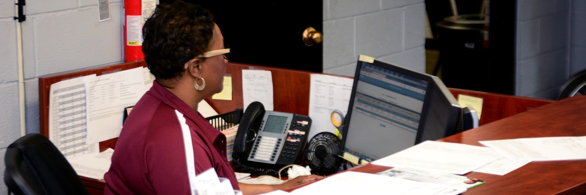
[[[212,12],[175,1],[155,8],[142,27],[142,53],[155,78],[180,78],[184,64],[205,53],[214,33]]]

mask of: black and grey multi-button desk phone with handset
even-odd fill
[[[265,111],[261,102],[252,102],[240,120],[233,158],[272,167],[298,163],[304,155],[310,126],[308,116]]]

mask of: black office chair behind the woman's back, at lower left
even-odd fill
[[[65,156],[41,134],[6,148],[4,182],[13,194],[89,194]]]

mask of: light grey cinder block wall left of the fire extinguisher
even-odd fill
[[[122,62],[122,0],[98,22],[95,0],[26,1],[22,22],[26,133],[39,132],[39,77]],[[21,137],[15,1],[0,0],[0,175],[6,147]],[[0,194],[7,194],[0,182]]]

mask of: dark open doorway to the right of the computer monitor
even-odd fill
[[[439,50],[440,56],[434,74],[441,70],[448,87],[513,94],[516,1],[452,2],[425,1],[434,35],[425,47]],[[483,3],[489,8],[486,15],[481,14]],[[457,16],[453,16],[451,5],[457,5]],[[489,23],[478,16],[488,16]]]

